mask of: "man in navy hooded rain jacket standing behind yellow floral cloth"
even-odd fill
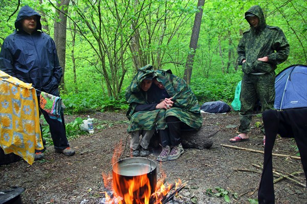
[[[0,52],[0,69],[23,82],[31,83],[40,92],[59,96],[58,86],[62,78],[62,67],[59,64],[53,39],[41,31],[40,15],[24,6],[15,20],[15,31],[3,42]],[[56,152],[72,156],[75,151],[70,148],[63,114],[62,121],[52,119],[44,110],[40,112],[49,124],[51,137]],[[44,157],[41,151],[36,152],[35,159]]]

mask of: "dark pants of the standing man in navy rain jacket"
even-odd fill
[[[49,124],[49,129],[50,129],[54,148],[55,149],[65,149],[69,147],[69,143],[66,137],[64,115],[61,114],[62,122],[60,122],[57,119],[50,118],[46,111],[39,108],[39,116],[41,114],[43,115],[47,123]],[[41,126],[40,126],[40,130],[41,130]],[[41,137],[42,137],[42,134],[41,134]],[[43,152],[45,150],[46,150],[46,147],[44,146],[42,150],[35,150],[35,152]]]

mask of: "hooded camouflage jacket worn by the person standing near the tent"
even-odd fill
[[[289,56],[288,41],[280,28],[266,24],[264,12],[259,6],[252,6],[245,16],[249,13],[258,16],[259,24],[256,28],[251,25],[250,30],[243,33],[237,47],[238,65],[242,65],[244,73],[273,72],[276,65],[286,61]],[[268,62],[257,60],[266,56]],[[242,64],[243,59],[246,59],[246,63]]]

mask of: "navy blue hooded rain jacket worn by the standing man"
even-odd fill
[[[37,28],[32,34],[25,32],[20,20],[37,16]],[[0,70],[23,82],[31,83],[40,91],[59,96],[58,86],[62,78],[62,67],[53,39],[42,33],[40,15],[29,6],[20,9],[15,31],[3,42],[0,52]]]

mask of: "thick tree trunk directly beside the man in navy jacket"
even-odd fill
[[[65,74],[65,53],[66,53],[66,25],[67,25],[67,13],[70,0],[61,0],[57,2],[57,8],[61,8],[59,11],[56,9],[56,13],[59,15],[59,22],[54,22],[54,42],[57,49],[60,65],[63,69],[63,77],[60,82],[60,88],[65,92],[64,74]]]

